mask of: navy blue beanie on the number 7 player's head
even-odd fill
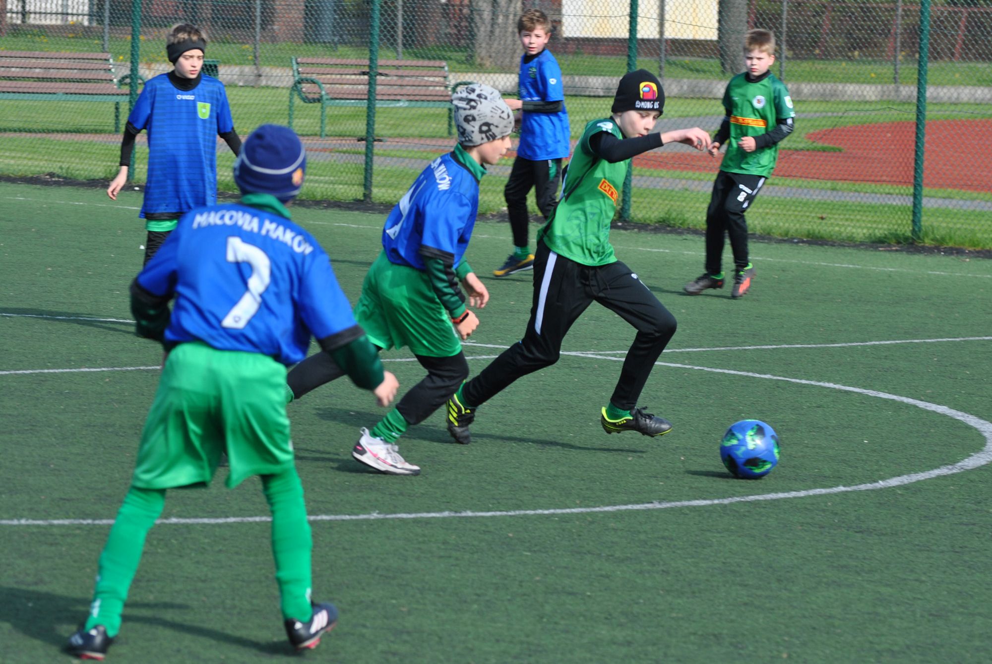
[[[251,133],[234,160],[241,193],[270,193],[284,203],[300,193],[307,151],[289,127],[262,125]]]

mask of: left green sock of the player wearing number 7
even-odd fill
[[[120,631],[121,613],[131,581],[138,571],[138,563],[141,562],[145,536],[165,506],[165,490],[131,487],[124,497],[100,554],[99,573],[86,629],[102,624],[110,637]]]

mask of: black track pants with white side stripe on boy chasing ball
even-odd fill
[[[543,242],[534,262],[534,304],[527,332],[465,384],[466,403],[482,405],[520,377],[558,362],[561,341],[592,302],[637,330],[610,397],[619,408],[636,406],[658,356],[676,333],[675,316],[623,263],[590,268],[558,256]]]

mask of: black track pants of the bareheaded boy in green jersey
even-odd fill
[[[748,264],[747,220],[744,211],[754,201],[767,178],[721,170],[713,181],[713,192],[706,209],[706,272],[721,272],[723,238],[730,237],[734,267],[744,270]]]

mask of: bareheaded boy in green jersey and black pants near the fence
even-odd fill
[[[767,30],[750,31],[744,37],[744,62],[747,71],[727,83],[723,93],[726,116],[709,146],[714,157],[724,143],[727,152],[706,210],[706,272],[683,286],[690,295],[723,287],[720,259],[724,235],[730,236],[734,254],[730,296],[743,297],[751,288],[754,267],[748,259],[744,211],[772,174],[779,142],[795,128],[796,112],[789,90],[768,70],[775,62],[775,36]]]

